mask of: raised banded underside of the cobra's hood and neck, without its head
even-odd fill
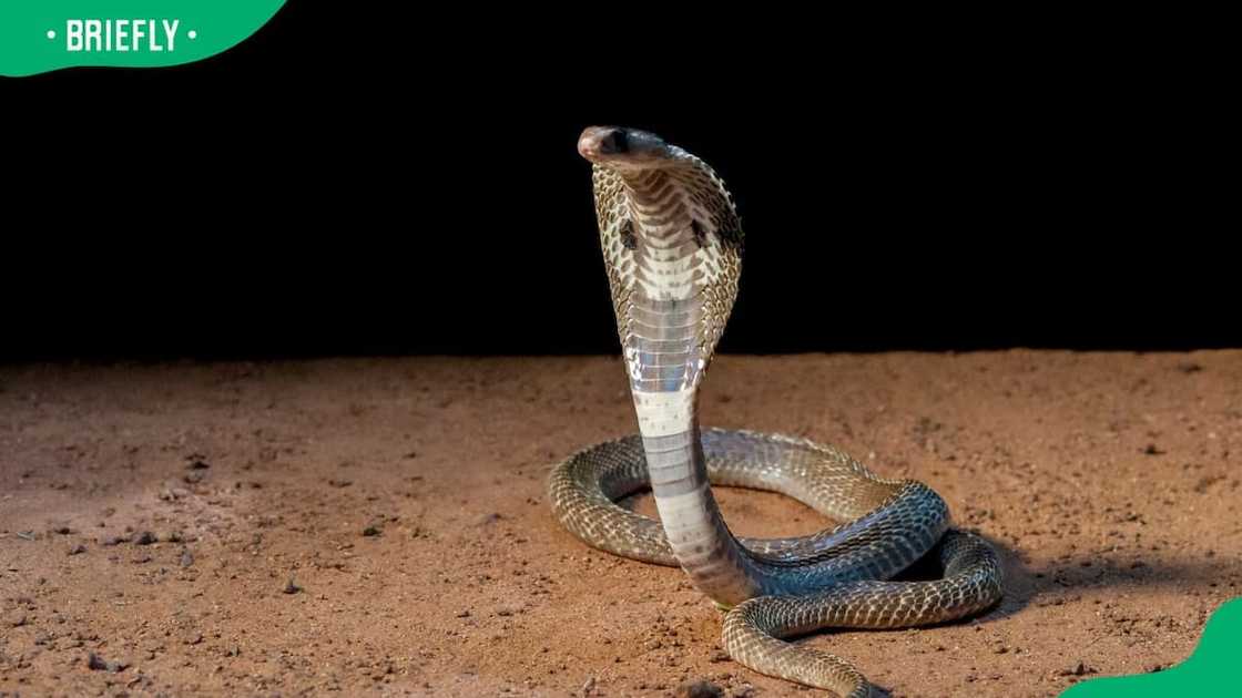
[[[595,165],[601,242],[668,544],[699,590],[738,604],[760,591],[759,574],[708,486],[696,400],[737,294],[728,279],[740,267],[740,233],[732,206],[713,206],[719,197],[702,191],[719,181],[714,173],[684,152],[672,155],[657,168]]]

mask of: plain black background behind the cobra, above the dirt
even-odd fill
[[[0,83],[0,358],[614,353],[595,123],[733,190],[722,350],[1242,344],[1212,46],[477,14]]]

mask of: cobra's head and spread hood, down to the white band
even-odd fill
[[[741,224],[707,163],[653,133],[590,127],[595,212],[636,391],[698,385],[733,309]]]

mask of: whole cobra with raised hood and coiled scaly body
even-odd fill
[[[751,671],[850,698],[882,691],[847,659],[791,640],[823,628],[903,628],[976,615],[1002,596],[996,550],[954,528],[927,484],[887,479],[809,438],[700,427],[698,395],[738,294],[745,242],[724,181],[635,128],[589,127],[595,217],[638,433],[551,468],[554,518],[587,545],[679,566],[724,611],[722,646]],[[712,486],[791,497],[843,522],[744,538]],[[622,505],[648,489],[658,520]],[[893,580],[928,558],[933,580]]]

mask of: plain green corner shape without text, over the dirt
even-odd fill
[[[1242,597],[1216,610],[1199,647],[1163,672],[1094,678],[1071,687],[1061,698],[1166,698],[1169,696],[1242,694]]]

